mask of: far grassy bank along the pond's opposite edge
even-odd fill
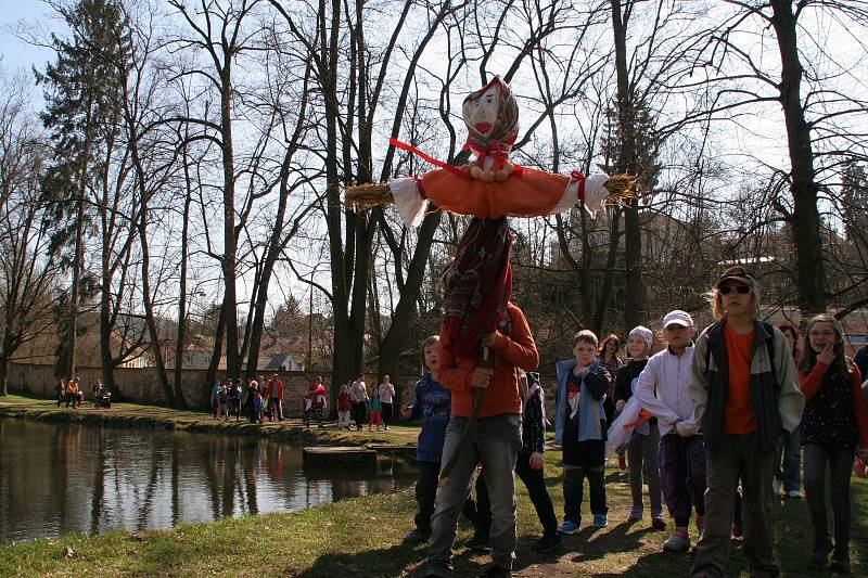
[[[305,427],[298,419],[278,423],[251,424],[246,420],[215,420],[210,413],[179,411],[158,406],[112,403],[111,409],[95,409],[92,403],[82,408],[59,408],[53,399],[22,395],[0,397],[0,419],[35,420],[49,423],[79,423],[104,427],[136,427],[170,429],[197,434],[260,436],[292,444],[318,446],[413,446],[419,428],[391,426],[388,432],[340,431],[334,422],[326,427]]]

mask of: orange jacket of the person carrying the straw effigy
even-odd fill
[[[508,304],[507,314],[512,320],[512,335],[498,332],[494,346],[495,367],[488,393],[480,412],[480,418],[499,415],[501,413],[521,413],[522,400],[519,393],[519,377],[515,368],[533,371],[539,365],[539,354],[536,350],[534,336],[527,325],[527,319],[519,307]],[[452,415],[470,418],[473,411],[473,370],[481,363],[480,359],[457,357],[443,346],[445,339],[441,329],[441,347],[438,350],[438,381],[452,393]]]

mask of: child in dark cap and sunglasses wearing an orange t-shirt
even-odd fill
[[[771,323],[757,321],[760,295],[753,274],[731,267],[712,295],[717,322],[697,339],[690,383],[707,452],[705,528],[692,576],[726,573],[739,479],[751,576],[778,576],[769,491],[775,450],[781,429],[792,432],[801,422],[805,398],[787,338]]]

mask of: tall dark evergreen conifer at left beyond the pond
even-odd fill
[[[56,61],[44,73],[35,73],[46,100],[40,117],[54,150],[42,184],[55,220],[52,251],[72,269],[59,345],[63,367],[58,373],[73,375],[78,309],[87,281],[84,246],[91,230],[88,198],[105,177],[105,151],[120,130],[120,99],[130,49],[120,2],[78,0],[56,10],[72,35],[52,35]]]

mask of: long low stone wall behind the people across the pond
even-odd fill
[[[190,408],[205,409],[209,407],[208,398],[203,394],[205,374],[205,370],[183,370],[182,372],[181,387],[184,400]],[[225,378],[225,372],[218,372],[217,375],[220,380]],[[307,386],[314,382],[317,375],[322,375],[326,383],[331,380],[330,374],[322,372],[294,371],[281,372],[279,375],[284,384],[283,411],[292,416],[302,414],[302,398],[307,393]],[[102,378],[102,370],[100,368],[78,368],[78,378],[85,390],[85,398],[90,401],[91,385]],[[397,393],[394,408],[396,415],[400,404],[412,402],[413,385],[418,380],[419,375],[417,374],[398,375],[392,380]],[[12,363],[9,367],[9,387],[12,390],[54,397],[56,383],[52,365]],[[117,368],[115,369],[115,384],[117,394],[119,394],[118,399],[124,401],[146,404],[163,404],[166,401],[159,387],[156,368]],[[370,382],[368,385],[370,386]],[[546,411],[551,420],[554,415],[554,378],[544,376],[544,386],[546,388]],[[333,402],[334,400],[330,400],[330,403]]]

